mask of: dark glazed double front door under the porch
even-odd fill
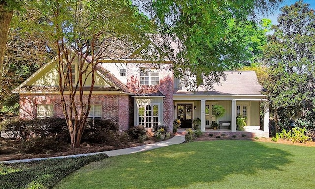
[[[192,104],[177,104],[177,119],[181,120],[180,128],[192,128]]]

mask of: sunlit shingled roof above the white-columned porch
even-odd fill
[[[262,95],[263,87],[258,83],[255,71],[224,71],[226,81],[222,85],[214,84],[213,91],[204,90],[203,86],[198,91],[174,89],[174,95]]]

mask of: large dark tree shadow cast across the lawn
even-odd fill
[[[150,178],[150,188],[183,188],[194,183],[221,181],[230,174],[252,175],[258,170],[279,170],[292,154],[252,141],[218,140],[173,145],[141,154],[133,169],[124,170],[122,181],[136,180],[136,188]],[[141,165],[142,164],[142,165]],[[141,168],[138,168],[141,167]],[[145,169],[143,168],[145,167]],[[129,167],[131,168],[131,167]],[[144,169],[144,170],[142,170]],[[122,188],[135,187],[124,183]]]

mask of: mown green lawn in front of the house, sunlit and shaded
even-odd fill
[[[192,142],[110,157],[60,189],[314,189],[315,148],[245,140]]]

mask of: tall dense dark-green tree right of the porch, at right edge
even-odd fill
[[[281,8],[278,25],[264,50],[269,65],[264,82],[276,129],[315,128],[315,14],[298,1]]]

